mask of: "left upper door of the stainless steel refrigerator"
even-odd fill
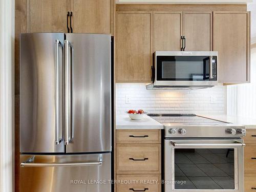
[[[20,152],[64,153],[63,33],[20,34]]]

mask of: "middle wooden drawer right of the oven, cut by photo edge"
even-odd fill
[[[256,145],[244,148],[244,169],[256,170]]]

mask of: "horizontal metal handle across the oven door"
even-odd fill
[[[193,147],[193,146],[208,146],[208,147],[242,147],[245,143],[175,143],[170,142],[174,147]]]

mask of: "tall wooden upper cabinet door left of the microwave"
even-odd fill
[[[116,81],[151,82],[152,12],[116,13]]]

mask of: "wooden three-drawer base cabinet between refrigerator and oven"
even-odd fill
[[[116,131],[116,192],[161,191],[161,130]]]

